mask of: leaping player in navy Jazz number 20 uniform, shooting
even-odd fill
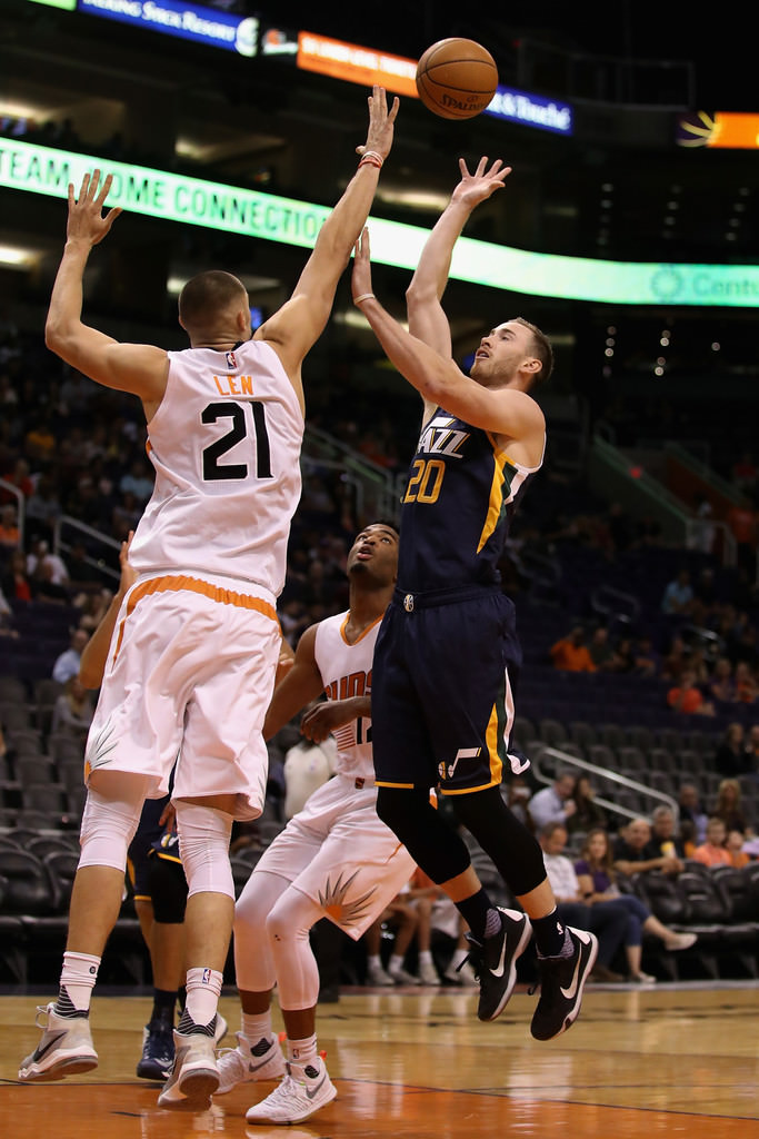
[[[552,368],[551,346],[522,318],[485,336],[471,376],[452,360],[440,305],[456,238],[473,207],[502,189],[500,161],[462,179],[422,252],[407,293],[406,333],[372,294],[369,235],[356,248],[357,304],[398,371],[424,400],[402,499],[398,587],[377,639],[372,686],[378,812],[471,929],[478,1016],[493,1021],[535,933],[541,999],[531,1032],[559,1035],[579,1013],[593,934],[564,929],[537,841],[503,802],[521,653],[497,563],[517,502],[543,462],[545,420],[529,393]],[[523,912],[493,904],[464,842],[429,805],[437,779],[459,821],[489,854]]]

